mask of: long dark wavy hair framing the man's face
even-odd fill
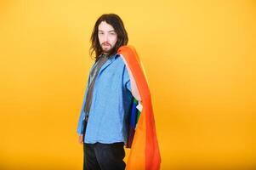
[[[117,14],[102,14],[100,18],[96,21],[94,30],[90,38],[91,47],[89,48],[89,54],[91,57],[93,57],[93,54],[95,53],[94,59],[96,61],[102,53],[98,37],[98,28],[102,21],[105,21],[107,24],[113,26],[114,30],[117,32],[117,42],[115,44],[115,47],[111,49],[108,57],[110,57],[112,54],[116,54],[118,48],[120,48],[122,45],[127,45],[128,43],[128,33],[124,28],[121,18]]]

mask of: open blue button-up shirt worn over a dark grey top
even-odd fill
[[[89,81],[90,77],[88,77]],[[79,134],[82,133],[84,126],[83,107],[87,92],[88,84],[77,125]],[[126,144],[128,111],[132,105],[132,99],[128,70],[120,55],[114,54],[102,65],[96,77],[84,142],[89,144],[124,142]]]

